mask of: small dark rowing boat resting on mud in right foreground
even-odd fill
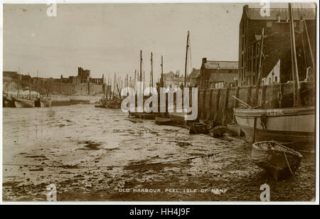
[[[251,159],[262,169],[272,173],[275,180],[294,176],[302,155],[277,141],[260,141],[252,144]]]

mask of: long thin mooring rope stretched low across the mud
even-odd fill
[[[239,149],[239,148],[237,148]],[[242,148],[240,148],[242,149]],[[235,151],[236,149],[230,149],[228,151]],[[60,165],[60,166],[53,166],[53,165],[41,165],[41,164],[2,164],[2,166],[36,166],[36,167],[51,167],[51,168],[62,168],[62,169],[82,169],[82,168],[114,168],[114,167],[127,167],[127,166],[146,166],[146,165],[156,165],[156,164],[167,164],[167,163],[173,163],[173,162],[178,162],[178,161],[190,161],[193,159],[198,159],[198,158],[203,158],[203,157],[208,157],[214,156],[220,153],[225,153],[228,151],[220,151],[217,153],[212,153],[212,154],[205,154],[201,156],[192,156],[188,157],[185,159],[176,159],[176,160],[171,160],[171,161],[159,161],[159,162],[154,162],[154,163],[149,163],[149,164],[130,164],[130,165],[111,165],[111,166],[78,166],[78,164],[75,165]]]

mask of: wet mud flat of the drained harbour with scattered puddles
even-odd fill
[[[314,200],[314,154],[276,182],[244,139],[92,105],[31,110],[4,109],[4,201],[47,201],[50,184],[58,201],[260,201],[264,183],[271,201]]]

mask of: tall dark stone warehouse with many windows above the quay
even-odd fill
[[[270,9],[270,16],[262,16],[261,9],[243,6],[239,26],[239,85],[255,85],[260,60],[260,40],[264,28],[261,78],[270,74],[280,60],[279,82],[292,80],[292,58],[289,31],[289,10]],[[311,53],[316,51],[316,9],[292,9],[299,79],[306,78],[306,68],[311,63]],[[306,28],[304,21],[306,21]],[[308,50],[308,38],[312,51]]]

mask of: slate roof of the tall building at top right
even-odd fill
[[[270,16],[261,16],[261,9],[250,9],[247,6],[244,7],[244,11],[250,20],[277,21],[279,16],[281,20],[289,19],[289,9],[270,9]],[[292,9],[292,16],[294,20],[300,20],[301,17],[306,20],[315,20],[316,9]]]

